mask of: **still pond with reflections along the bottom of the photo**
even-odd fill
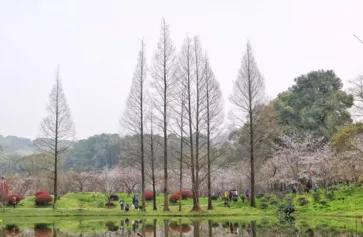
[[[230,217],[227,219],[17,219],[0,223],[3,236],[363,236],[360,219]]]

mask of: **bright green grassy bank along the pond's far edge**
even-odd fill
[[[16,209],[0,209],[1,216],[7,217],[66,217],[66,216],[271,216],[276,215],[278,206],[293,202],[296,207],[296,215],[299,216],[336,216],[336,217],[362,217],[363,215],[363,188],[347,186],[336,187],[325,195],[323,191],[319,194],[277,194],[266,195],[257,198],[257,208],[250,208],[248,202],[232,202],[231,208],[224,207],[222,200],[213,201],[214,210],[207,211],[207,199],[201,198],[202,212],[190,212],[192,200],[183,200],[181,212],[178,211],[178,204],[170,204],[170,211],[163,212],[163,195],[157,196],[157,211],[152,210],[152,202],[147,202],[145,213],[131,208],[128,213],[122,212],[118,202],[114,202],[115,208],[105,208],[106,197],[101,193],[69,193],[58,202],[58,209],[51,207],[35,207],[34,197],[23,200]],[[118,194],[131,206],[131,195]],[[314,199],[315,196],[315,199]],[[305,201],[301,201],[305,200]],[[305,205],[302,205],[305,203]],[[264,209],[262,209],[264,208]]]

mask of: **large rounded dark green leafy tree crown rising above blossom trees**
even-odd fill
[[[285,132],[311,131],[331,138],[341,126],[352,122],[347,111],[353,96],[342,90],[334,71],[312,71],[295,79],[295,84],[278,95],[275,104]]]

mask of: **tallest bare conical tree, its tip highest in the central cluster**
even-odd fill
[[[162,19],[160,41],[154,55],[152,77],[155,90],[155,108],[160,114],[160,127],[164,136],[164,211],[168,205],[168,120],[170,118],[170,102],[175,83],[175,48],[170,38],[169,26]]]

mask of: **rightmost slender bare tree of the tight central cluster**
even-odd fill
[[[215,79],[214,74],[210,68],[208,59],[206,57],[204,67],[204,80],[206,90],[206,117],[205,123],[207,124],[207,178],[208,178],[208,210],[212,210],[212,181],[211,181],[211,165],[212,162],[218,157],[214,152],[215,147],[212,146],[212,141],[217,138],[221,131],[221,124],[223,123],[223,102],[222,92],[218,81]],[[214,156],[213,156],[214,155]]]

